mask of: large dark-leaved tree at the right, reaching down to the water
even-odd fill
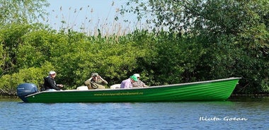
[[[242,86],[253,88],[239,91],[259,93],[269,84],[268,5],[267,0],[130,0],[121,13],[147,18],[157,34],[167,30],[198,39],[205,50],[193,66],[199,79],[240,76]]]

